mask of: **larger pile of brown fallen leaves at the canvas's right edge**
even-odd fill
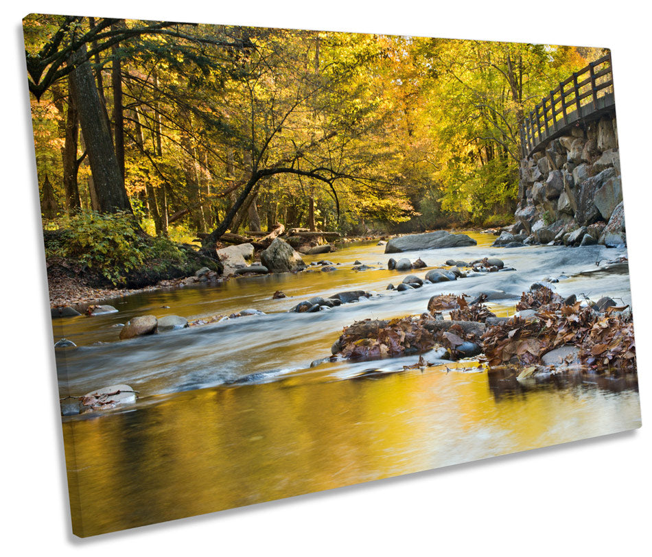
[[[532,366],[564,345],[578,348],[581,364],[598,372],[636,370],[631,313],[609,307],[604,313],[580,302],[564,305],[547,287],[523,294],[517,309],[536,309],[535,318],[519,317],[491,327],[482,335],[489,366]]]

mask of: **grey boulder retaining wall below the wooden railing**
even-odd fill
[[[626,245],[616,119],[572,128],[524,158],[518,199],[496,246]]]

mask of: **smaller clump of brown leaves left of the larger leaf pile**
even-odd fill
[[[345,327],[336,342],[335,355],[348,359],[380,359],[422,353],[436,344],[425,324],[428,313],[392,320],[356,321]]]

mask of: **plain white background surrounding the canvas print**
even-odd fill
[[[649,14],[587,1],[33,0],[3,8],[1,546],[10,555],[620,554],[649,551],[650,429],[80,540],[70,532],[32,129],[28,11],[610,47],[644,423],[652,381]],[[581,6],[581,7],[580,7]],[[636,7],[635,7],[636,6]],[[563,10],[563,13],[562,13]],[[647,11],[647,10],[646,10]],[[555,12],[555,18],[551,16]],[[351,404],[355,404],[351,401]],[[193,471],[188,471],[189,474]],[[101,497],[101,494],[97,494]],[[128,504],[128,501],[126,501]],[[644,549],[648,547],[648,549]]]

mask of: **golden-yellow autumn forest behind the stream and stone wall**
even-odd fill
[[[205,245],[277,222],[507,224],[524,115],[603,54],[38,14],[23,29],[44,226],[119,213]]]

